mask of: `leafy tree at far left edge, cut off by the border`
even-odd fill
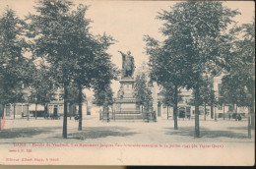
[[[23,82],[31,82],[32,61],[24,56],[29,51],[25,40],[25,22],[15,16],[11,9],[0,18],[0,116],[4,105],[24,101]],[[1,126],[1,125],[0,125]]]

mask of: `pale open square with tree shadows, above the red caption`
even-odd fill
[[[4,142],[253,142],[247,139],[247,119],[242,121],[200,119],[201,138],[194,138],[194,119],[178,119],[178,130],[173,120],[165,117],[158,122],[99,121],[98,115],[83,119],[83,131],[78,131],[78,121],[68,118],[68,139],[62,139],[63,119],[37,118],[5,119],[0,143]]]

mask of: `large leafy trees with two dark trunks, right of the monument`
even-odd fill
[[[172,93],[174,129],[177,128],[178,89],[193,89],[195,105],[195,137],[200,137],[200,99],[209,103],[213,97],[211,79],[224,72],[224,93],[246,98],[245,86],[254,93],[254,24],[228,29],[238,11],[224,7],[222,2],[180,2],[162,10],[157,19],[164,24],[160,32],[165,39],[159,41],[146,35],[146,52],[150,56],[151,77]],[[243,32],[243,37],[238,34]],[[235,77],[236,76],[236,77]],[[232,88],[232,82],[239,89]],[[231,83],[232,85],[229,85]],[[171,86],[169,86],[171,85]],[[204,90],[207,90],[209,94]],[[229,97],[224,94],[226,101]],[[252,107],[254,97],[246,100]],[[236,99],[238,101],[238,99]],[[241,104],[241,106],[247,106]]]

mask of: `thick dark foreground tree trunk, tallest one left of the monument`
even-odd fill
[[[68,118],[68,88],[67,84],[64,84],[64,117],[63,117],[63,139],[67,139],[67,118]]]

